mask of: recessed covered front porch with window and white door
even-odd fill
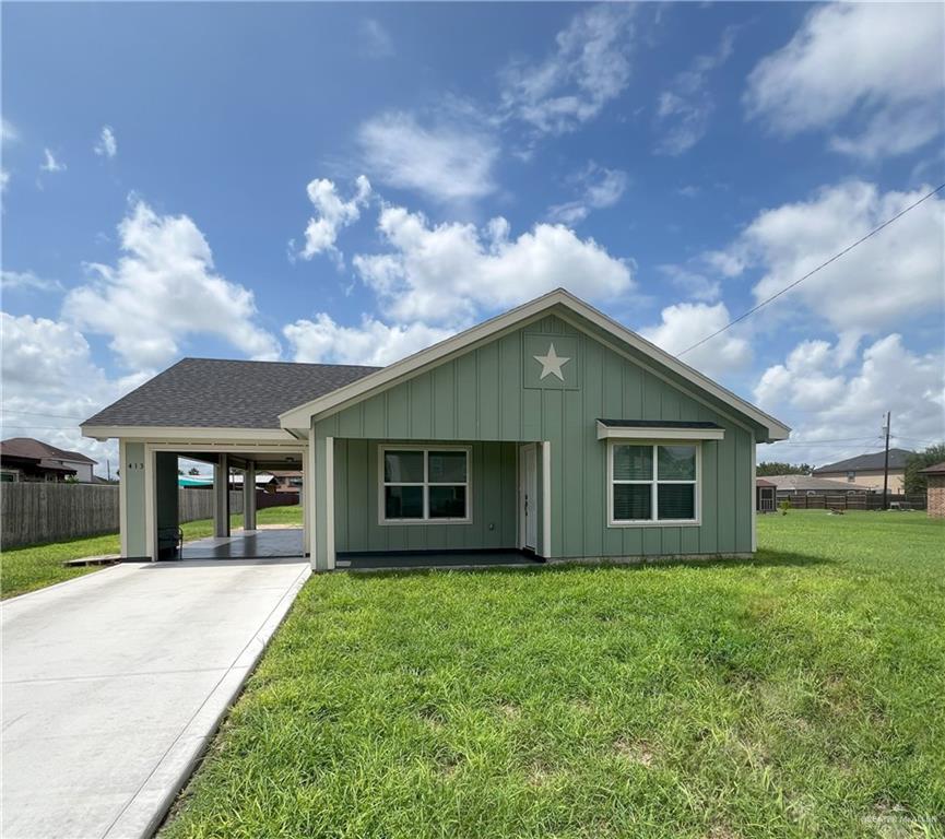
[[[550,446],[316,438],[319,570],[530,565],[547,553]]]

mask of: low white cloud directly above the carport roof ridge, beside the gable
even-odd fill
[[[296,362],[369,364],[385,366],[442,341],[452,330],[425,323],[388,326],[364,317],[358,327],[343,327],[320,312],[312,320],[297,320],[283,329]]]

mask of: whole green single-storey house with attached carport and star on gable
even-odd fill
[[[122,556],[157,556],[186,456],[213,464],[220,536],[228,469],[249,486],[302,470],[319,570],[398,552],[749,555],[755,447],[790,433],[564,289],[383,368],[185,358],[82,430],[119,444]]]

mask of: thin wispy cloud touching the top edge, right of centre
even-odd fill
[[[501,74],[501,110],[540,133],[562,134],[596,117],[630,79],[635,7],[602,3],[580,11],[540,63],[518,61]]]

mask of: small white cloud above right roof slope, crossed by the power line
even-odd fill
[[[677,303],[661,312],[662,320],[639,330],[640,334],[668,353],[676,355],[696,341],[724,327],[730,320],[725,304]],[[708,344],[687,353],[683,361],[707,376],[744,367],[752,361],[751,344],[737,332],[723,332]]]

